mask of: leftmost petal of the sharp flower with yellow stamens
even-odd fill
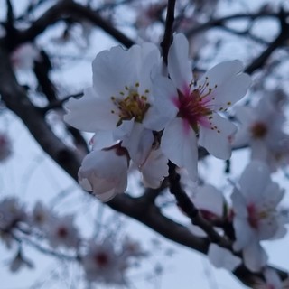
[[[64,120],[70,126],[87,132],[117,127],[119,117],[117,114],[111,113],[117,107],[109,98],[98,98],[92,88],[85,89],[82,98],[70,98],[65,107],[68,110],[68,114],[64,116]]]

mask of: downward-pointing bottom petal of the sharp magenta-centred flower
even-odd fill
[[[175,118],[163,131],[161,149],[172,163],[184,167],[192,181],[198,177],[198,146],[194,131],[182,118]]]

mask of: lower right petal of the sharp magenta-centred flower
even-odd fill
[[[213,114],[210,120],[212,125],[217,128],[200,126],[199,144],[207,149],[207,151],[223,160],[228,160],[231,155],[231,144],[229,136],[236,132],[234,126],[228,119],[219,117],[218,114]]]

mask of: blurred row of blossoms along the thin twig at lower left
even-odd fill
[[[21,240],[41,247],[47,254],[78,262],[89,283],[125,285],[127,271],[148,256],[141,245],[128,236],[119,238],[107,233],[102,238],[82,238],[72,215],[59,216],[41,202],[37,202],[33,210],[25,210],[14,197],[0,202],[0,240],[11,249]],[[24,256],[19,243],[9,268],[16,272],[23,266],[32,268],[33,262]]]

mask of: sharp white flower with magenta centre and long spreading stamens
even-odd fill
[[[163,153],[191,179],[197,178],[198,143],[210,154],[228,159],[229,137],[236,127],[219,113],[242,98],[250,85],[240,61],[225,61],[213,67],[200,79],[193,79],[188,60],[189,44],[183,34],[176,34],[168,55],[171,79],[154,77],[155,107],[163,119]]]

